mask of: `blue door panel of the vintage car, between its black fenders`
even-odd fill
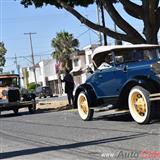
[[[99,98],[107,98],[117,97],[126,80],[127,66],[114,62],[111,67],[97,69],[91,83]]]

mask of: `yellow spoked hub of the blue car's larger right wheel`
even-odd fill
[[[146,113],[146,102],[139,92],[133,93],[131,97],[132,108],[140,115],[144,116]]]

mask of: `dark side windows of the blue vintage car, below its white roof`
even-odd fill
[[[115,53],[116,64],[160,59],[159,48],[120,50]]]

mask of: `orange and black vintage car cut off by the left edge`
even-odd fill
[[[28,108],[30,113],[36,110],[35,95],[25,93],[21,95],[17,74],[0,74],[0,113],[13,110],[15,114],[20,108]]]

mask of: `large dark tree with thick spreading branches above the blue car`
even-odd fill
[[[87,7],[95,2],[100,3],[104,7],[122,32],[117,33],[107,27],[93,23],[80,14],[75,8],[75,6]],[[123,5],[124,10],[130,16],[143,21],[143,33],[139,33],[121,16],[120,12],[116,10],[114,3],[118,2]],[[74,15],[81,23],[117,40],[123,40],[133,44],[157,44],[158,31],[160,28],[159,0],[140,0],[140,3],[141,4],[136,4],[132,0],[21,0],[21,4],[25,7],[33,4],[35,7],[42,7],[43,5],[50,4],[57,8],[64,8]]]

